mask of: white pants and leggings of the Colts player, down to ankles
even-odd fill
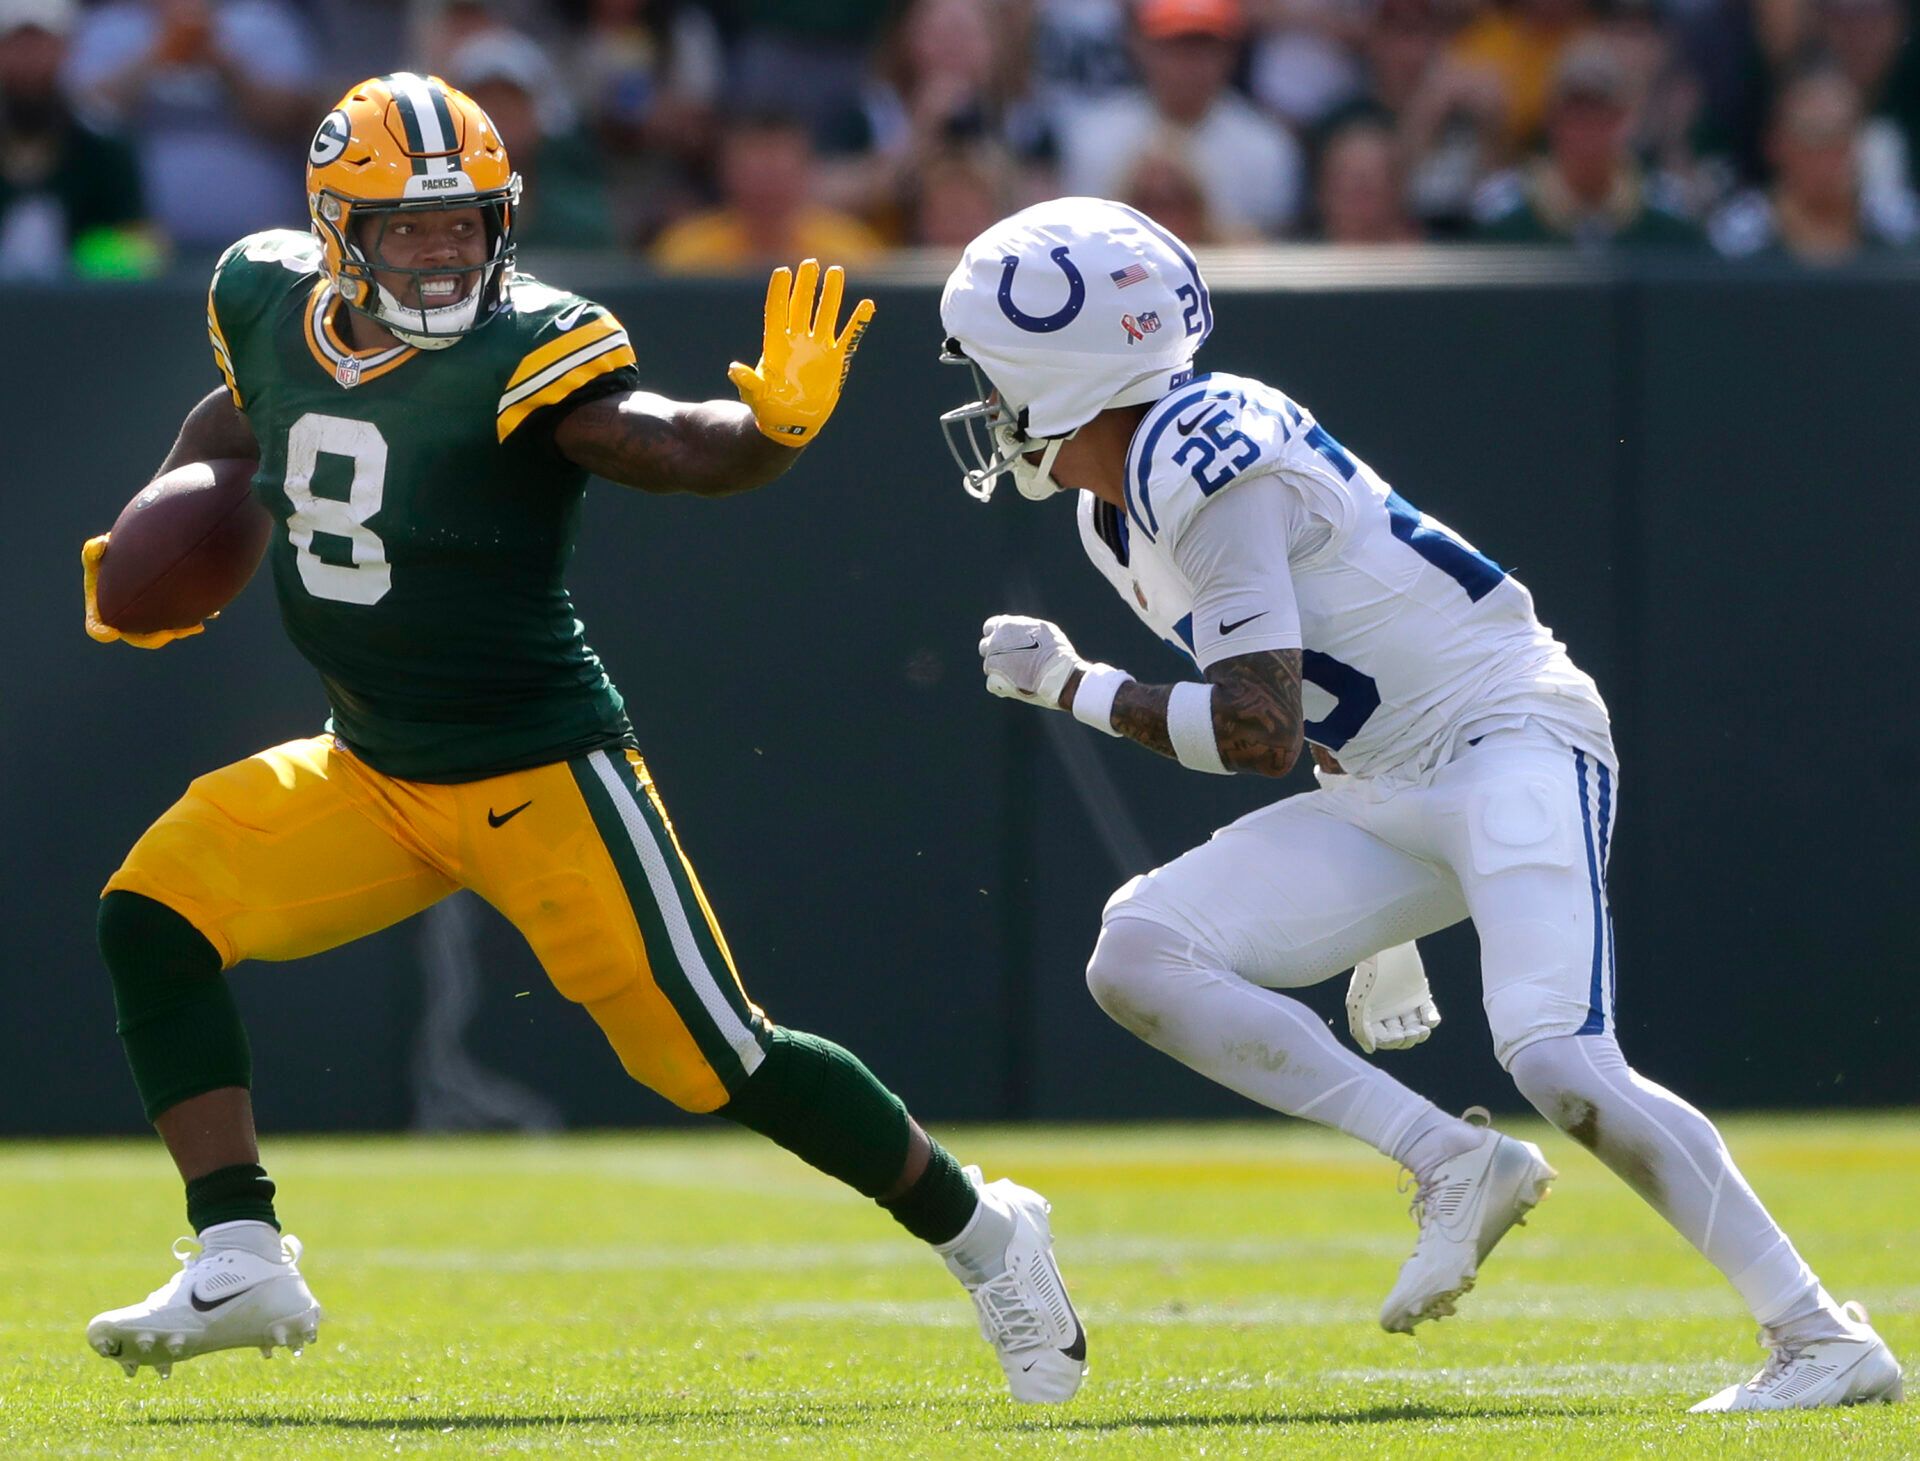
[[[1611,766],[1532,730],[1488,735],[1430,785],[1321,778],[1135,877],[1087,968],[1119,1023],[1233,1090],[1405,1160],[1432,1108],[1273,993],[1473,918],[1494,1050],[1718,1267],[1763,1325],[1832,1305],[1686,1102],[1613,1039]],[[1438,1133],[1436,1133],[1438,1135]]]

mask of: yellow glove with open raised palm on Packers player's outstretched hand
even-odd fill
[[[783,447],[803,447],[820,434],[839,405],[847,367],[860,347],[860,336],[874,319],[874,301],[854,305],[847,328],[837,336],[841,294],[847,271],[828,269],[820,290],[820,309],[814,309],[814,284],[820,282],[820,261],[806,259],[801,275],[781,265],[766,284],[766,338],[760,344],[760,363],[751,371],[733,361],[726,378],[733,382],[760,430]]]

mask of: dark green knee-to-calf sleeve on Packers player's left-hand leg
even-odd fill
[[[115,891],[100,900],[100,954],[148,1121],[188,1096],[253,1085],[240,1008],[200,929],[163,902]]]

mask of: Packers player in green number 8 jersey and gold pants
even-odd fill
[[[198,1250],[88,1325],[129,1375],[300,1348],[321,1309],[259,1162],[225,971],[334,948],[467,887],[526,935],[628,1073],[876,1198],[973,1294],[1016,1396],[1069,1398],[1085,1332],[1044,1200],[981,1183],[852,1054],[747,998],[618,691],[563,586],[589,474],[720,495],[778,478],[839,397],[872,317],[843,276],[780,269],[741,403],[639,388],[603,307],[513,265],[520,180],[434,77],[355,86],[307,157],[313,232],[253,234],[213,276],[221,386],[161,470],[255,459],[286,632],[324,735],[196,779],[108,881],[100,948]],[[820,292],[818,307],[814,292]],[[88,632],[108,539],[84,549]],[[202,626],[140,635],[159,647]]]

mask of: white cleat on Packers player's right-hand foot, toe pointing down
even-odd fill
[[[947,1267],[973,1296],[979,1334],[1000,1357],[1014,1400],[1052,1405],[1073,1400],[1087,1375],[1087,1330],[1054,1263],[1054,1233],[1046,1221],[1052,1204],[1006,1177],[981,1183],[979,1167],[968,1167],[966,1175],[981,1202],[1014,1219],[1014,1236],[1006,1244],[1006,1267],[985,1282],[975,1282],[954,1259],[947,1259]]]

